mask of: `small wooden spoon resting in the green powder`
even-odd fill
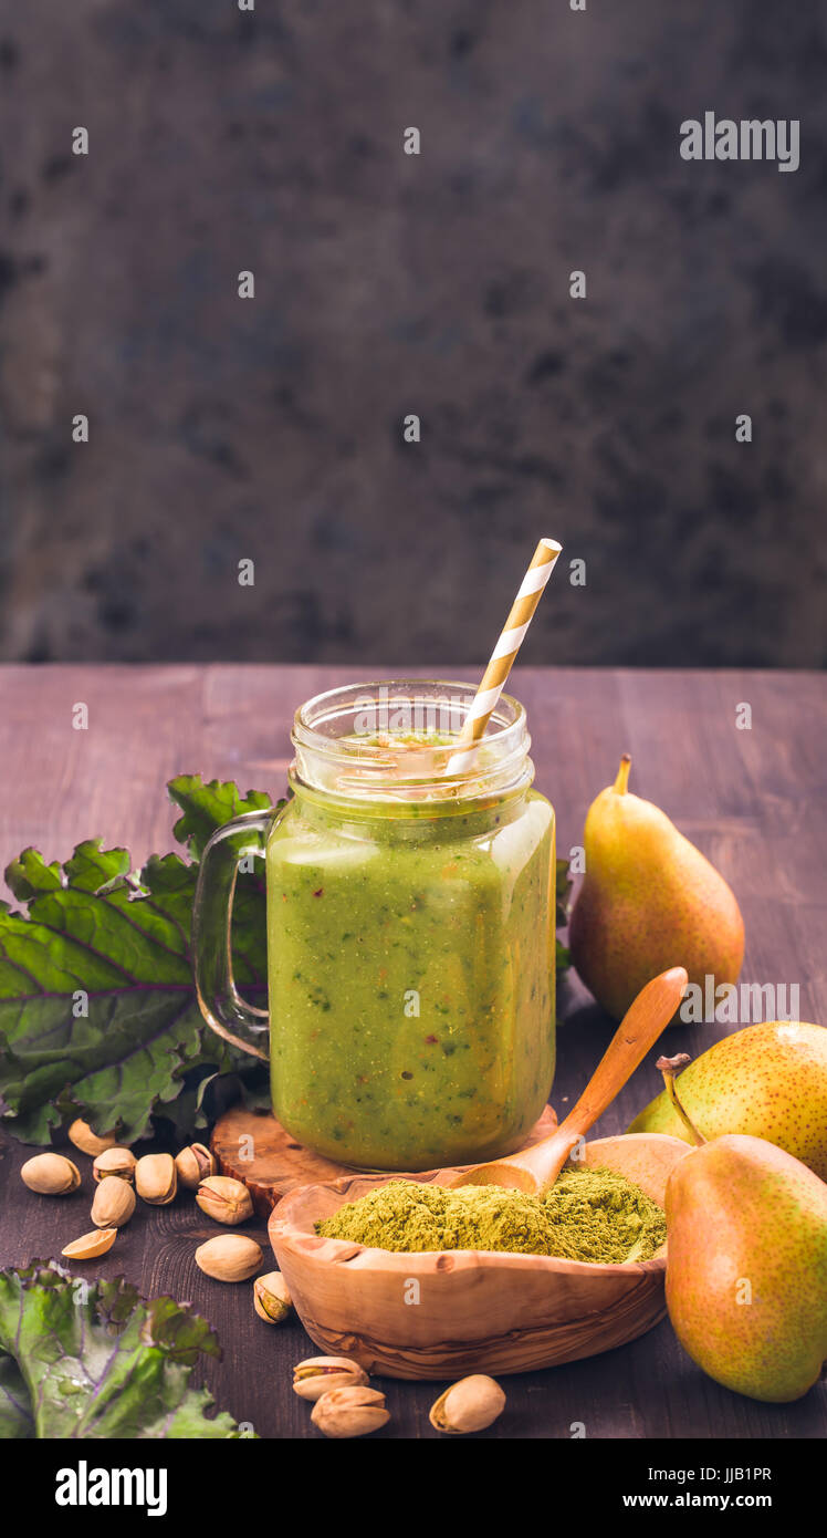
[[[575,1144],[612,1104],[615,1095],[619,1094],[638,1064],[643,1063],[649,1047],[672,1020],[686,984],[686,967],[673,966],[641,987],[583,1095],[556,1132],[543,1138],[543,1143],[524,1149],[523,1154],[509,1154],[507,1158],[498,1158],[490,1164],[475,1164],[450,1184],[506,1186],[509,1190],[524,1190],[530,1197],[541,1197],[544,1190],[549,1190]]]

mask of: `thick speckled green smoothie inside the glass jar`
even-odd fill
[[[278,1120],[360,1169],[518,1147],[555,1063],[550,804],[294,791],[267,841]]]

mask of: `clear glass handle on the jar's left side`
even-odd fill
[[[243,812],[218,827],[198,869],[192,907],[192,963],[198,1006],[208,1026],[243,1052],[269,1058],[269,1010],[241,998],[232,975],[232,901],[238,866],[264,858],[267,834],[284,807]]]

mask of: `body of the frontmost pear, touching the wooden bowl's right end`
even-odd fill
[[[666,1303],[710,1378],[799,1400],[827,1358],[827,1186],[739,1134],[678,1160],[666,1187]]]

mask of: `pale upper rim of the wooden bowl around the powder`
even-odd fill
[[[692,1152],[692,1144],[684,1143],[681,1138],[673,1138],[666,1132],[618,1132],[606,1138],[595,1138],[587,1143],[589,1149],[599,1147],[601,1144],[612,1143],[618,1144],[621,1138],[626,1141],[656,1141],[659,1144],[672,1143],[679,1147],[683,1154]],[[440,1181],[440,1175],[455,1175],[461,1173],[463,1169],[470,1169],[472,1166],[447,1166],[437,1170],[424,1170],[417,1175],[407,1175],[403,1170],[384,1175],[363,1175],[354,1170],[349,1175],[338,1175],[337,1180],[320,1180],[311,1181],[306,1186],[297,1186],[291,1190],[281,1201],[274,1207],[267,1221],[267,1235],[274,1250],[278,1244],[289,1244],[295,1250],[301,1250],[306,1260],[312,1260],[321,1266],[343,1266],[357,1261],[360,1270],[372,1272],[395,1272],[406,1270],[410,1272],[412,1266],[418,1266],[423,1270],[441,1270],[441,1272],[457,1272],[466,1269],[477,1269],[481,1263],[486,1266],[504,1266],[512,1270],[547,1270],[553,1275],[570,1275],[570,1277],[639,1277],[643,1275],[659,1275],[666,1270],[667,1258],[667,1240],[659,1246],[659,1249],[649,1260],[635,1261],[589,1261],[589,1260],[567,1260],[561,1255],[532,1255],[523,1253],[521,1250],[386,1250],[374,1244],[360,1244],[357,1240],[338,1240],[324,1238],[315,1233],[312,1229],[295,1223],[289,1212],[287,1215],[280,1215],[284,1207],[292,1203],[306,1200],[315,1190],[332,1192],[335,1195],[343,1190],[346,1193],[347,1187],[354,1181],[364,1181],[370,1186],[387,1184],[389,1180],[414,1180],[417,1184],[444,1184]],[[564,1166],[569,1167],[569,1166]],[[575,1161],[572,1167],[578,1167]],[[344,1189],[343,1189],[344,1187]],[[361,1192],[366,1195],[367,1192]],[[357,1198],[352,1198],[357,1200]],[[340,1201],[344,1206],[344,1201]],[[444,1257],[449,1255],[452,1260],[450,1267],[446,1266]],[[278,1258],[278,1252],[277,1252]]]

